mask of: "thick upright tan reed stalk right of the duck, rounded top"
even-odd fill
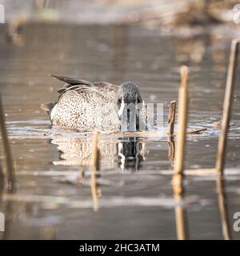
[[[174,194],[182,194],[182,174],[185,158],[186,143],[186,122],[188,111],[188,69],[186,66],[181,67],[181,86],[178,94],[178,134],[176,141],[176,153],[174,159],[174,177],[173,186]]]

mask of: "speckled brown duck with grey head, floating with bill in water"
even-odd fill
[[[130,81],[119,86],[51,75],[65,82],[58,100],[42,104],[52,126],[80,132],[149,130],[154,115],[139,87]]]

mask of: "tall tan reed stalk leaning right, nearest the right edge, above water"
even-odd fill
[[[230,125],[230,110],[234,94],[234,83],[238,64],[239,43],[240,41],[236,39],[231,42],[230,61],[227,71],[226,91],[223,103],[222,127],[221,134],[218,140],[218,153],[216,160],[216,169],[218,170],[218,173],[220,175],[223,174],[223,168],[225,164],[226,137],[227,129]]]

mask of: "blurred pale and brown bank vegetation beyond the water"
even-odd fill
[[[138,22],[145,26],[240,23],[237,0],[1,0],[0,3],[6,8],[6,21]]]

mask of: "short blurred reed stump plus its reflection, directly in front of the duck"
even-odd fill
[[[94,211],[98,211],[98,183],[97,172],[100,170],[100,150],[98,147],[98,131],[94,130],[93,134],[93,151],[92,151],[92,163],[91,163],[91,192],[94,203]]]

